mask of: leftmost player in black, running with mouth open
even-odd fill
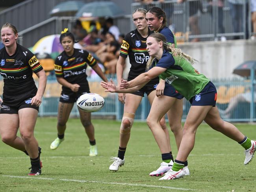
[[[4,78],[4,92],[3,100],[0,98],[3,102],[0,135],[4,143],[30,156],[32,167],[28,175],[40,175],[41,148],[33,132],[46,87],[45,71],[30,50],[17,44],[18,31],[15,26],[4,24],[1,39],[4,48],[0,50],[0,72]],[[32,78],[33,72],[39,78],[38,89]],[[21,138],[17,137],[19,128]]]

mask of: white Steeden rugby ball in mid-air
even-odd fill
[[[85,112],[95,112],[100,110],[105,104],[104,98],[96,93],[82,94],[77,100],[76,105]]]

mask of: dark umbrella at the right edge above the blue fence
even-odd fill
[[[256,61],[245,61],[244,63],[242,63],[241,65],[237,66],[233,73],[237,74],[239,76],[243,76],[243,77],[249,77],[250,76],[250,71],[254,70],[254,74],[255,74],[255,70],[256,70]]]

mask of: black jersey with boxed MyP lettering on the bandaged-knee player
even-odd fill
[[[149,29],[148,31],[148,35],[153,33]],[[127,33],[122,41],[120,56],[126,58],[127,55],[129,55],[130,63],[132,65],[128,76],[129,80],[136,78],[146,70],[146,64],[150,57],[147,51],[146,41],[147,38],[142,37],[137,29]],[[159,79],[155,78],[150,82],[153,81],[157,84]]]

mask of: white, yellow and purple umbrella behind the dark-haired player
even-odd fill
[[[48,35],[39,39],[32,47],[32,52],[47,54],[63,52],[63,47],[59,42],[59,35]]]

